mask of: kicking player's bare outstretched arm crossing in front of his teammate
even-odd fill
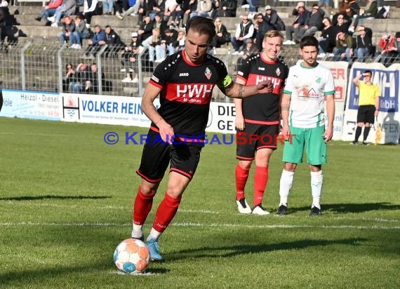
[[[231,83],[222,91],[229,98],[248,98],[258,93],[271,93],[274,88],[271,81],[262,81],[255,86],[244,86],[239,83]]]

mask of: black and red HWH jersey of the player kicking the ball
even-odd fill
[[[161,88],[159,114],[175,134],[204,135],[216,85],[227,87],[232,79],[225,64],[211,55],[193,64],[185,51],[169,55],[154,70],[150,85]],[[152,123],[152,128],[156,125]]]

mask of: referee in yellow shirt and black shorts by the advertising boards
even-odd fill
[[[364,77],[364,81],[360,80],[361,77]],[[368,137],[369,130],[371,129],[371,123],[374,121],[374,116],[378,116],[379,88],[373,84],[371,80],[371,70],[366,70],[353,79],[354,84],[359,88],[359,112],[357,113],[356,137],[354,138],[354,141],[350,143],[350,145],[359,144],[359,137],[364,125],[363,145],[368,145],[366,139]]]

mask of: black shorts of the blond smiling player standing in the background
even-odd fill
[[[258,149],[276,149],[277,137],[279,124],[246,123],[244,130],[236,133],[236,159],[253,160]]]

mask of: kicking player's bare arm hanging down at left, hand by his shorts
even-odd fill
[[[173,135],[173,128],[172,126],[167,123],[162,116],[157,112],[156,107],[154,107],[154,100],[156,99],[157,95],[159,95],[161,89],[149,84],[146,87],[145,93],[143,94],[142,98],[142,112],[146,114],[146,116],[156,124],[159,128],[159,133],[161,135],[161,139],[164,142],[168,142],[169,144],[172,143],[171,136]],[[168,140],[167,140],[168,135]]]

